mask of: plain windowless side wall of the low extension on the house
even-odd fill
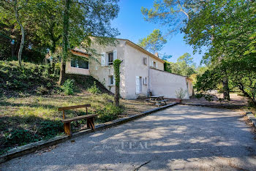
[[[149,89],[154,95],[176,99],[177,90],[182,88],[184,91],[187,91],[186,77],[181,75],[174,75],[169,72],[163,72],[152,68],[149,69],[149,75]],[[189,99],[188,93],[184,99]]]

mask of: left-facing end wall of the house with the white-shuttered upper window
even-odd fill
[[[89,69],[90,69],[90,73],[91,76],[93,76],[94,78],[96,78],[97,80],[99,80],[99,82],[102,83],[102,85],[104,85],[106,88],[108,88],[108,90],[110,90],[112,93],[115,93],[115,88],[116,86],[109,86],[108,83],[108,77],[110,75],[114,75],[114,70],[113,70],[113,65],[111,66],[101,66],[101,53],[107,53],[113,50],[117,51],[117,58],[120,60],[123,60],[123,62],[121,63],[120,66],[120,95],[123,98],[127,97],[126,91],[125,91],[125,60],[124,60],[124,47],[125,47],[125,41],[122,40],[118,40],[117,42],[118,44],[116,45],[116,47],[113,46],[105,46],[103,47],[102,45],[97,45],[97,44],[93,44],[91,45],[92,48],[94,48],[94,50],[97,51],[97,53],[99,54],[99,56],[93,56],[93,58],[96,58],[96,60],[91,59],[89,60]]]

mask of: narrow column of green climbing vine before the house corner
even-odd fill
[[[113,66],[114,66],[114,75],[115,75],[115,80],[116,80],[116,91],[115,91],[115,104],[116,106],[119,106],[119,88],[120,88],[120,64],[121,64],[120,59],[116,59],[113,61]]]

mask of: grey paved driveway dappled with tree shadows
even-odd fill
[[[0,165],[0,170],[256,170],[241,114],[177,105]]]

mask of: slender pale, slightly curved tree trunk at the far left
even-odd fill
[[[20,41],[20,49],[19,49],[19,52],[18,52],[18,61],[19,61],[19,64],[20,64],[20,67],[22,67],[22,61],[21,61],[21,55],[22,55],[22,50],[23,50],[23,47],[24,47],[24,41],[25,41],[25,31],[24,31],[24,28],[22,26],[22,23],[20,23],[20,18],[19,18],[19,15],[18,15],[18,4],[17,4],[17,0],[15,0],[15,6],[14,6],[14,10],[15,10],[15,18],[18,22],[18,25],[20,26],[20,30],[21,30],[21,41]]]

